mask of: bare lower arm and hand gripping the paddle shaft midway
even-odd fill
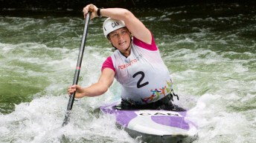
[[[100,96],[109,89],[114,81],[115,72],[110,68],[105,68],[102,70],[100,79],[97,83],[92,84],[89,87],[80,87],[79,85],[72,85],[68,87],[68,94],[71,95],[76,91],[75,98],[82,98],[84,96]]]

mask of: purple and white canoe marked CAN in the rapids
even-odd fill
[[[130,136],[141,136],[146,142],[193,142],[198,137],[196,124],[186,118],[186,110],[118,110],[118,104],[106,104],[100,110],[113,114]]]

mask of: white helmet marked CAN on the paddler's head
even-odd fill
[[[108,18],[103,23],[103,33],[106,37],[109,33],[114,30],[118,30],[121,27],[126,27],[124,21]]]

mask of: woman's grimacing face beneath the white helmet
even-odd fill
[[[109,40],[118,50],[125,51],[129,49],[131,38],[127,27],[109,33]]]

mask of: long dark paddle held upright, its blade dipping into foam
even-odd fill
[[[88,29],[90,16],[91,16],[91,13],[89,12],[86,16],[86,23],[85,23],[84,28],[83,28],[83,39],[81,41],[80,51],[79,51],[79,55],[78,55],[78,59],[77,59],[77,68],[76,68],[75,73],[74,73],[73,85],[77,84],[78,78],[79,78],[80,68],[81,68],[81,64],[82,64],[82,60],[83,60],[83,51],[84,51],[84,47],[86,46],[86,36],[87,36],[87,29]],[[69,117],[70,117],[72,106],[73,106],[73,103],[74,103],[75,94],[76,94],[76,92],[71,94],[71,96],[69,97],[68,107],[67,107],[67,110],[65,112],[65,119],[64,119],[64,122],[63,122],[63,126],[65,126],[69,122]]]

